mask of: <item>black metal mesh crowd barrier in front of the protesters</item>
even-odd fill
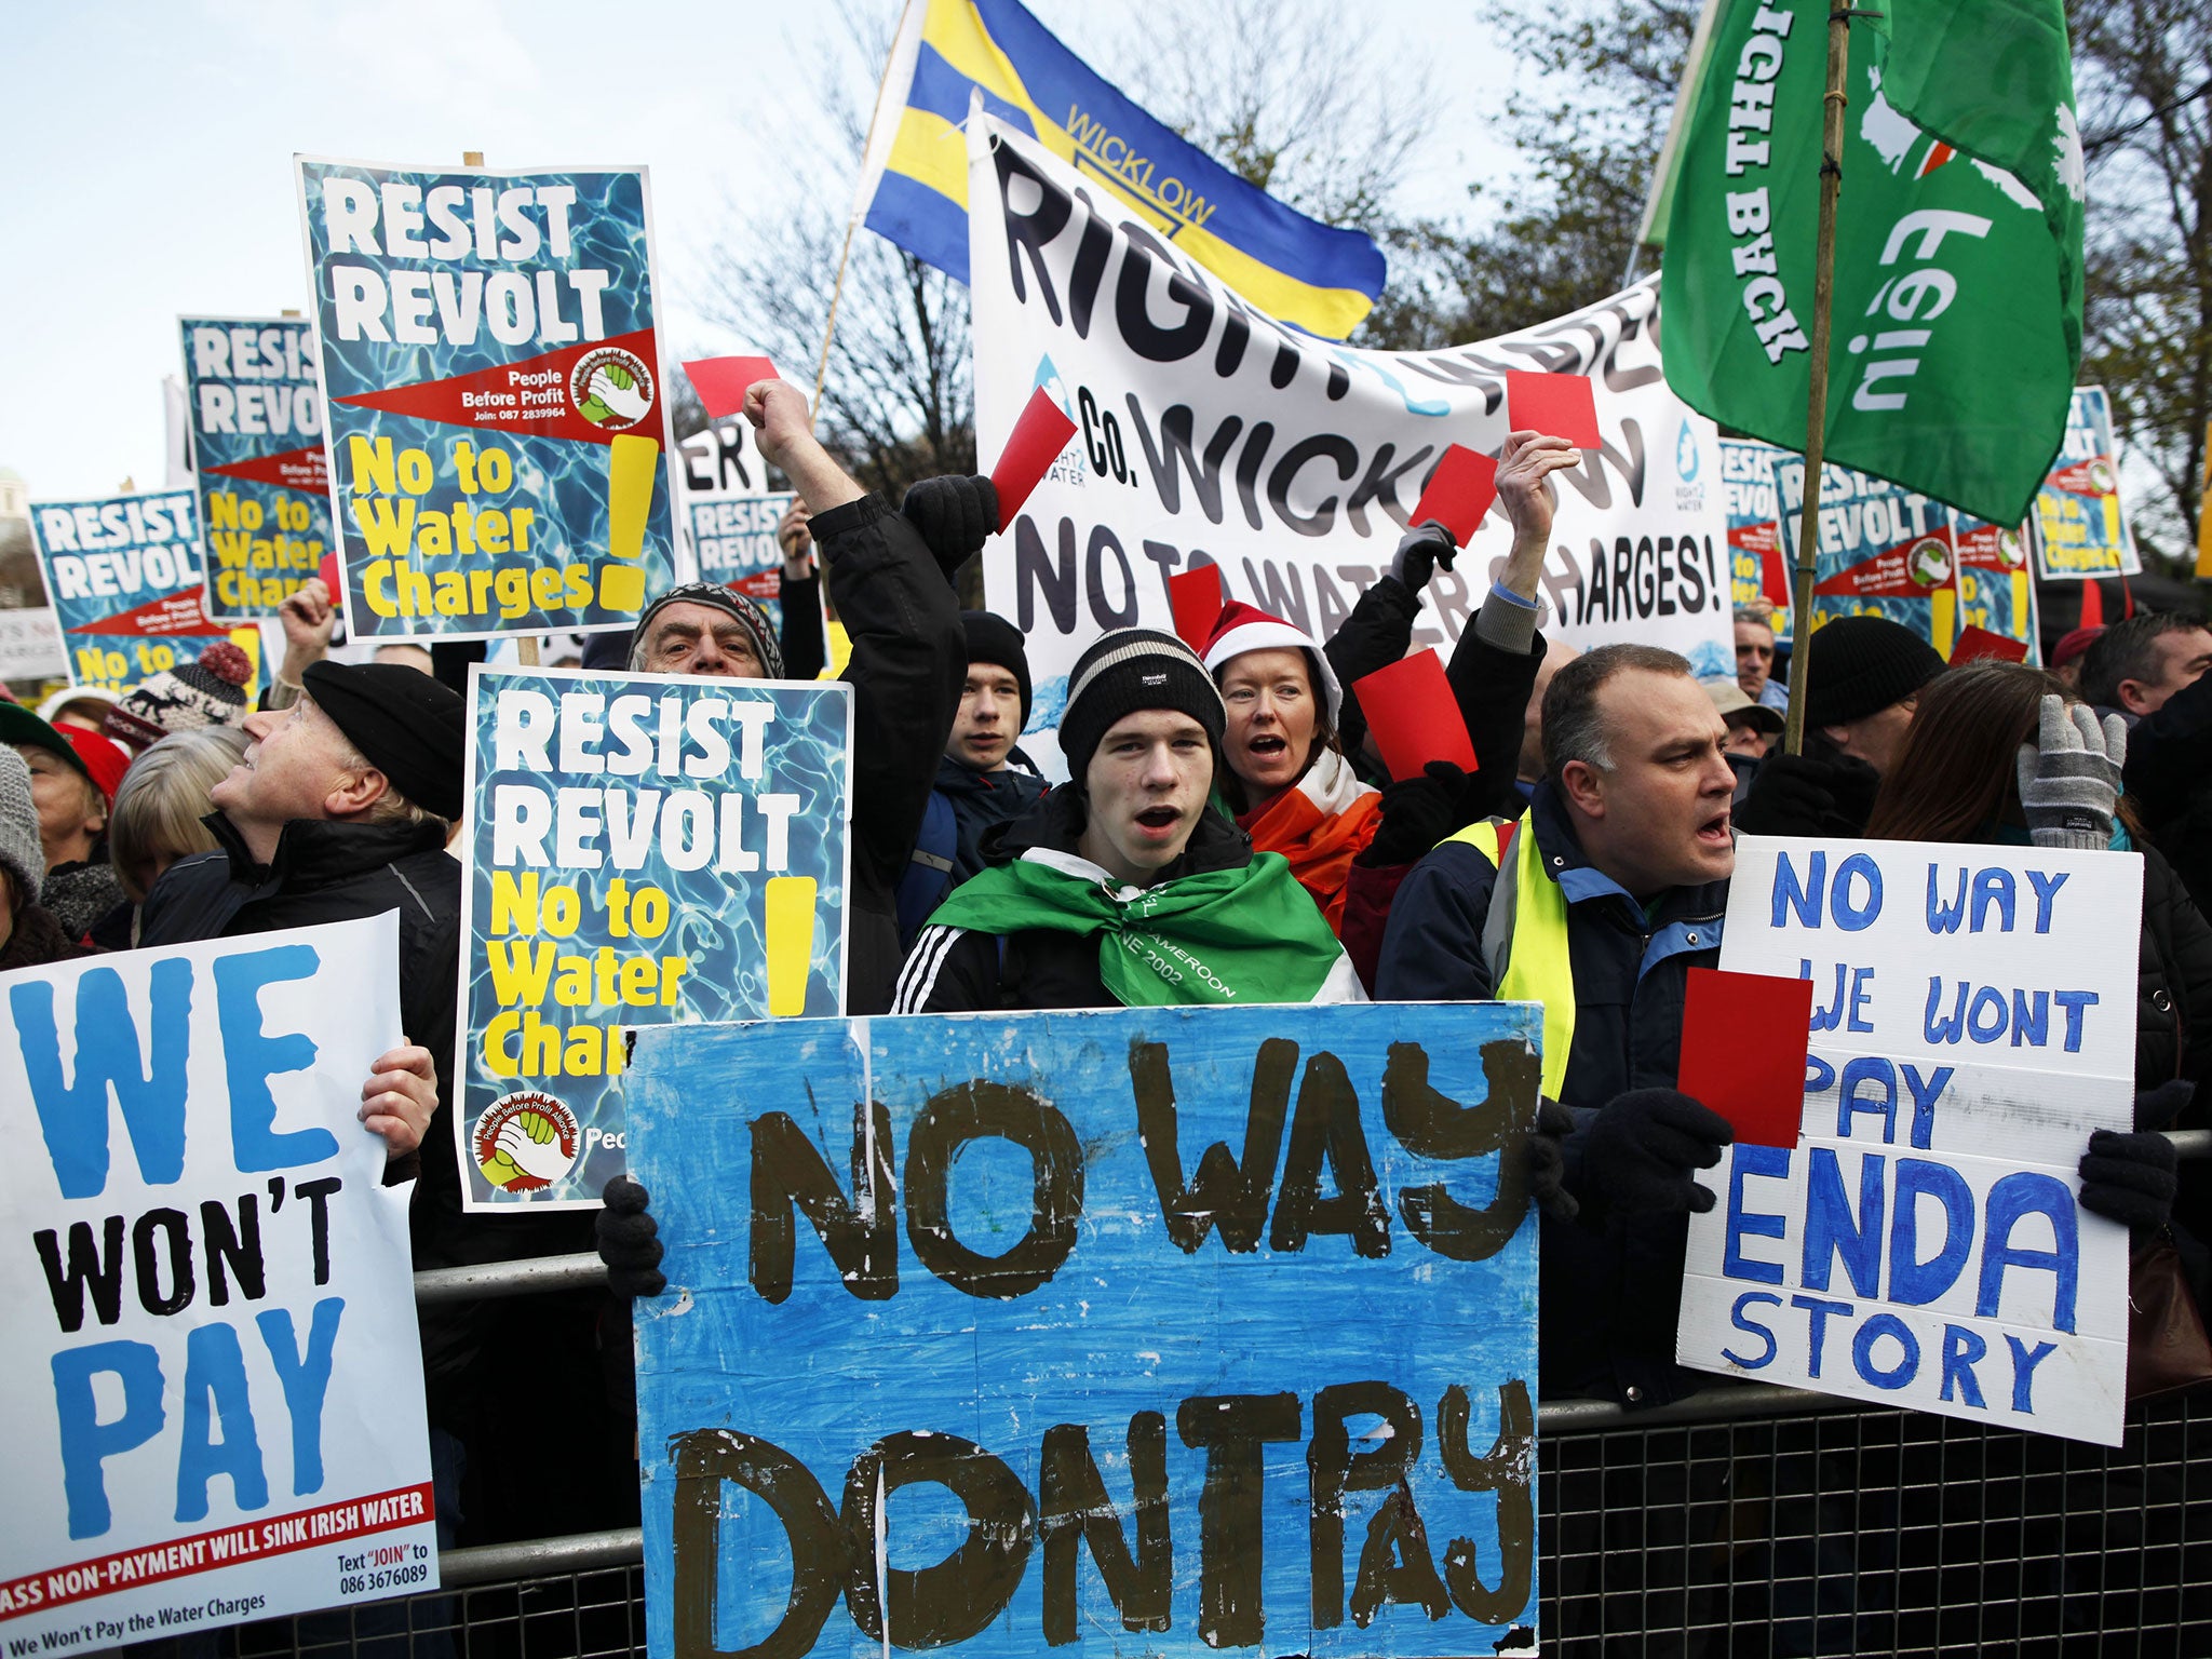
[[[2179,1130],[2212,1157],[2212,1130]],[[597,1256],[416,1274],[418,1303],[575,1290]],[[1548,1655],[2212,1655],[2212,1387],[2117,1449],[1774,1385],[1537,1407]],[[250,1626],[239,1659],[646,1650],[626,1526],[438,1557],[442,1588]]]

